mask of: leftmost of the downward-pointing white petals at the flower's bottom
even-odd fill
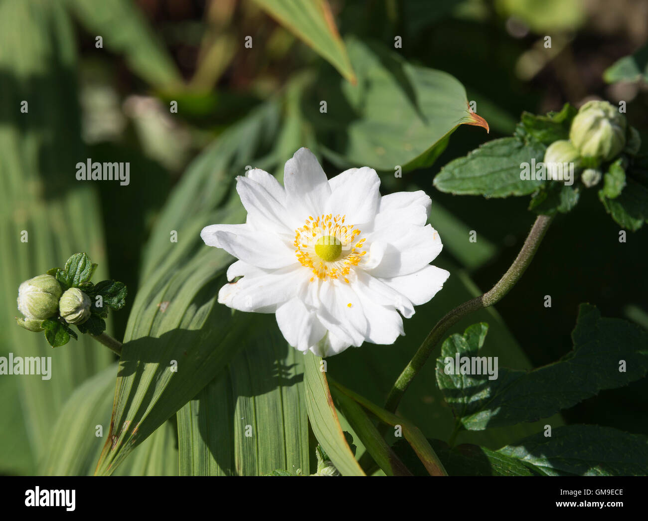
[[[317,315],[297,297],[277,308],[277,324],[288,343],[299,351],[307,351],[326,334]]]

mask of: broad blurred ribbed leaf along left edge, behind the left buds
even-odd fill
[[[67,397],[110,364],[112,354],[90,338],[52,350],[43,334],[16,326],[18,285],[75,251],[104,261],[96,187],[75,179],[85,160],[80,141],[75,38],[59,2],[0,3],[0,325],[3,356],[51,357],[51,380],[16,378],[31,458],[45,456]],[[27,102],[24,106],[23,102]],[[21,107],[27,108],[21,112]],[[105,268],[99,269],[107,275]],[[16,402],[0,400],[0,415],[15,417]],[[3,440],[3,444],[4,444]],[[29,457],[27,457],[29,459]]]

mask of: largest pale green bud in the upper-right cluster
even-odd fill
[[[573,119],[569,137],[584,157],[612,159],[625,146],[625,117],[607,101],[588,101]]]

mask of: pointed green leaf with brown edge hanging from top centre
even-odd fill
[[[353,84],[356,82],[347,49],[340,38],[327,0],[255,0],[255,2],[330,62],[349,82]]]

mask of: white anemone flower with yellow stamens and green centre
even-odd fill
[[[332,179],[307,148],[286,161],[284,185],[255,168],[237,178],[245,224],[213,224],[200,236],[237,257],[218,302],[275,313],[288,343],[319,356],[363,342],[391,344],[402,316],[428,302],[450,275],[430,265],[443,245],[426,225],[422,191],[380,196],[373,168]],[[400,312],[400,314],[399,314]]]

